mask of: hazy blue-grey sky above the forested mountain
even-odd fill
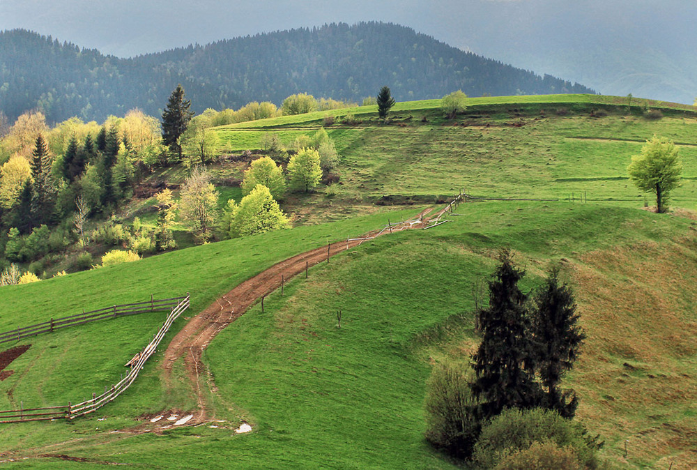
[[[369,20],[603,93],[627,94],[622,76],[604,80],[603,69],[615,64],[636,69],[631,74],[671,73],[682,100],[697,93],[689,91],[697,83],[696,0],[0,0],[0,29],[31,29],[118,56]]]

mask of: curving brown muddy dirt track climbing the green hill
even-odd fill
[[[419,216],[429,211],[431,211],[431,209],[427,209]],[[420,228],[422,224],[434,218],[438,218],[442,213],[443,211],[440,211],[429,218],[424,217],[423,222],[412,224],[403,222],[399,225],[392,225],[391,232],[399,232],[410,228]],[[389,233],[390,231],[388,230],[371,232],[366,234],[364,238]],[[349,241],[348,243],[346,243],[346,241],[332,243],[329,245],[329,257],[338,255],[340,252],[360,245],[360,243],[362,243],[360,240]],[[284,280],[289,280],[293,278],[293,276],[305,271],[306,266],[314,266],[323,261],[327,261],[327,259],[327,245],[285,259],[271,266],[266,271],[246,280],[224,296],[218,298],[215,302],[210,304],[206,310],[190,319],[181,331],[179,331],[169,343],[167,351],[164,351],[162,367],[164,368],[164,379],[166,383],[169,384],[174,363],[184,358],[186,374],[192,383],[198,402],[198,410],[194,414],[192,421],[200,423],[206,420],[206,398],[204,395],[206,387],[206,384],[204,384],[205,366],[201,361],[201,356],[204,349],[210,344],[210,341],[213,340],[215,335],[222,331],[223,328],[242,316],[251,305],[259,301],[263,296],[267,296],[281,287],[282,277]],[[208,377],[208,381],[211,381],[210,377]],[[210,386],[215,389],[212,383]]]

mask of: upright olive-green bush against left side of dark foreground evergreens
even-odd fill
[[[426,439],[455,457],[471,455],[479,423],[470,414],[476,401],[469,367],[438,364],[427,381]]]

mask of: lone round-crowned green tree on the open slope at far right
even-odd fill
[[[675,144],[654,135],[641,147],[641,153],[631,157],[627,171],[637,188],[656,195],[656,211],[664,213],[671,191],[680,187],[682,162]]]

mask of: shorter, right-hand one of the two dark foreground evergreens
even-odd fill
[[[562,374],[571,370],[585,339],[571,288],[561,284],[553,268],[533,298],[532,338],[537,352],[535,367],[544,391],[542,406],[573,418],[579,398],[572,390],[560,391]]]

